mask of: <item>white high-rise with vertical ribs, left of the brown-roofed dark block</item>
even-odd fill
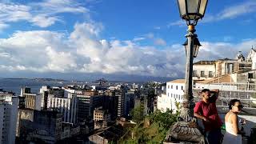
[[[62,122],[77,123],[78,98],[75,93],[70,93],[69,91],[65,90],[64,97],[56,97],[53,94],[49,94],[47,108],[57,108],[62,113]]]

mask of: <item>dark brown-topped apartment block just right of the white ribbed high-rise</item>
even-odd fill
[[[93,119],[94,109],[102,105],[102,95],[97,91],[84,91],[78,94],[78,121]]]

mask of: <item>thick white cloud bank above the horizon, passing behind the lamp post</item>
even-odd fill
[[[183,76],[183,46],[174,44],[159,50],[140,46],[134,40],[107,41],[99,39],[101,31],[102,25],[97,22],[77,23],[69,36],[47,30],[18,31],[0,39],[0,71]],[[196,60],[234,58],[239,50],[246,53],[255,43],[256,39],[238,44],[202,42]]]

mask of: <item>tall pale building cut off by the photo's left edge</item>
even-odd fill
[[[17,117],[18,97],[6,96],[0,101],[0,143],[15,143]]]

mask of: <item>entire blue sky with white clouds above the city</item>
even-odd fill
[[[256,1],[209,1],[200,60],[256,47]],[[186,22],[175,0],[2,0],[1,78],[184,78]]]

